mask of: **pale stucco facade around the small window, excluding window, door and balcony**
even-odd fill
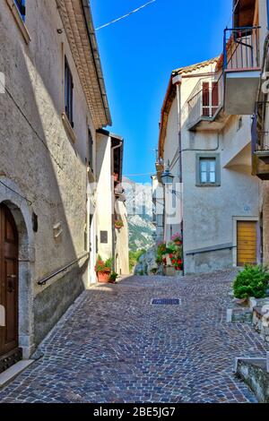
[[[168,217],[168,202],[172,196],[180,197],[181,187],[178,154],[178,118],[180,116],[180,155],[182,165],[182,211],[183,252],[185,273],[209,272],[237,266],[237,221],[256,221],[256,262],[260,262],[259,236],[259,180],[251,175],[251,119],[250,116],[219,116],[201,118],[201,122],[190,129],[190,100],[196,95],[199,81],[217,81],[219,59],[179,69],[182,82],[177,92],[169,85],[169,110],[165,124],[162,120],[159,142],[160,162],[174,176],[170,197],[166,201],[164,240],[169,243],[173,234],[180,230],[180,213]],[[178,93],[180,115],[178,115]],[[203,93],[204,95],[204,93]],[[201,95],[201,98],[203,98]],[[221,99],[221,89],[219,90]],[[204,100],[204,99],[201,99]],[[222,99],[221,99],[222,100]],[[221,105],[221,103],[220,103]],[[203,120],[203,121],[202,121]],[[212,185],[199,182],[199,159],[215,159],[218,180]],[[167,187],[165,187],[167,188]],[[179,192],[179,193],[178,193]],[[175,197],[175,199],[176,199]],[[180,199],[175,208],[181,207]]]

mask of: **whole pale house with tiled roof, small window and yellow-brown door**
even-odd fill
[[[163,187],[164,240],[182,232],[185,273],[262,259],[251,117],[226,109],[222,66],[223,56],[173,71],[161,110],[157,176],[174,177]]]

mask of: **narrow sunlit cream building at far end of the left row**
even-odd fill
[[[118,275],[129,273],[126,195],[122,185],[123,151],[122,137],[106,130],[98,131],[98,253],[103,260],[113,258],[113,269]]]

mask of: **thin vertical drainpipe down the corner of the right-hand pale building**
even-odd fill
[[[184,249],[183,243],[183,175],[182,175],[182,130],[181,130],[181,84],[182,84],[182,75],[178,74],[172,79],[173,85],[177,87],[177,103],[178,103],[178,178],[179,178],[179,188],[180,188],[180,230],[181,230],[181,239],[182,239],[182,254]],[[182,256],[183,257],[183,256]],[[184,266],[183,266],[184,267]]]

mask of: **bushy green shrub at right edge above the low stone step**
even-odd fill
[[[246,265],[244,271],[239,272],[233,284],[233,293],[237,298],[255,296],[263,298],[268,288],[268,268],[262,265]]]

